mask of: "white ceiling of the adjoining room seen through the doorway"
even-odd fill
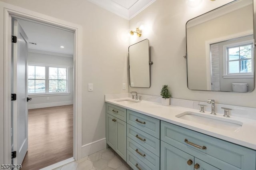
[[[18,22],[28,36],[28,42],[36,43],[28,43],[29,51],[59,53],[61,56],[73,57],[73,32],[26,20]]]

